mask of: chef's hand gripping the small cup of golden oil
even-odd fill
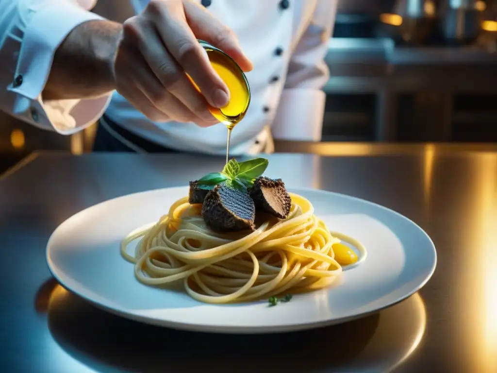
[[[114,62],[117,91],[154,121],[215,124],[208,104],[226,105],[229,91],[197,39],[228,53],[244,71],[252,69],[234,33],[201,5],[151,0],[123,24]]]

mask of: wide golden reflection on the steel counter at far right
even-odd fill
[[[489,172],[494,170],[494,172]],[[467,315],[473,321],[463,321],[462,329],[467,341],[465,348],[471,349],[474,356],[475,372],[497,372],[497,155],[484,154],[474,163],[476,188],[473,210],[474,224],[468,227],[475,240],[462,242],[475,251],[475,259],[470,260],[474,271],[461,270],[465,286],[461,292],[472,299],[467,306]],[[471,211],[470,211],[471,213]],[[471,298],[470,298],[471,297]],[[479,341],[475,344],[469,341]]]

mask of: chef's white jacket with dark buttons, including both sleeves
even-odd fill
[[[153,122],[117,92],[43,100],[53,55],[79,24],[139,13],[149,0],[0,0],[0,109],[37,127],[69,135],[103,113],[138,136],[190,152],[223,154],[226,128]],[[253,71],[251,101],[232,133],[231,151],[256,153],[278,139],[319,141],[329,77],[328,50],[337,0],[195,0],[239,37]],[[286,0],[284,0],[286,1]],[[89,10],[93,9],[93,12]],[[98,13],[98,14],[97,14]],[[269,129],[269,130],[268,130]]]

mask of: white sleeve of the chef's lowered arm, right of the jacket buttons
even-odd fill
[[[271,133],[276,139],[321,141],[329,79],[325,62],[337,0],[319,0],[290,58]]]

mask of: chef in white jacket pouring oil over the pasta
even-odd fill
[[[247,72],[233,155],[319,141],[336,3],[0,0],[0,109],[62,135],[98,121],[94,151],[224,154],[226,127],[207,108],[229,90],[202,39]]]

